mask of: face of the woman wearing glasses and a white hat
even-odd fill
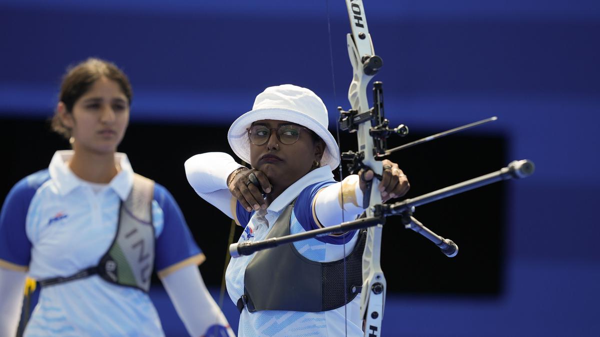
[[[250,143],[250,161],[254,169],[266,174],[272,185],[289,186],[307,174],[320,161],[325,151],[323,142],[314,142],[310,131],[286,121],[265,119],[253,123],[269,129],[268,140],[262,145]],[[299,130],[298,141],[286,145],[277,138],[277,129],[282,125],[292,125]],[[264,132],[264,130],[263,130]],[[286,137],[286,135],[281,135]]]

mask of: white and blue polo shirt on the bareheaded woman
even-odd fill
[[[29,270],[35,279],[70,276],[95,266],[115,238],[121,201],[133,185],[125,154],[107,185],[77,177],[65,164],[72,151],[57,151],[50,166],[20,180],[0,213],[0,267]],[[204,255],[172,195],[155,183],[152,201],[155,269],[160,276]],[[163,336],[148,294],[98,275],[44,287],[26,336]]]

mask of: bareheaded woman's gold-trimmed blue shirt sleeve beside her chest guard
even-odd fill
[[[194,242],[173,195],[155,183],[154,200],[163,210],[164,216],[164,227],[155,247],[155,269],[158,275],[164,277],[188,264],[202,263],[205,260],[204,254]]]

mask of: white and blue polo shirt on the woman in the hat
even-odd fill
[[[312,212],[313,200],[319,189],[332,183],[335,183],[335,180],[328,166],[310,171],[289,186],[269,205],[266,209],[266,220],[269,224],[274,224],[284,207],[298,197],[290,219],[290,233],[301,233],[302,231],[319,228],[319,225],[314,221]],[[244,232],[238,242],[264,240],[272,226],[267,226],[260,221],[260,216],[257,216],[254,211],[247,212],[239,201],[236,203],[235,208],[236,222],[244,227]],[[346,219],[346,221],[348,220],[350,219]],[[309,260],[329,262],[344,257],[344,246],[346,246],[346,255],[350,254],[356,244],[357,237],[356,231],[352,231],[344,236],[321,236],[293,244],[298,252]],[[346,242],[345,245],[344,242]],[[233,303],[237,303],[238,299],[244,294],[245,269],[253,257],[254,254],[232,258],[229,266],[227,266],[227,291]],[[270,275],[265,275],[265,282],[278,282],[278,280],[272,279]],[[362,321],[359,314],[360,294],[348,303],[345,309],[347,309],[347,335],[362,336]],[[324,312],[249,312],[244,308],[239,319],[238,337],[344,336],[346,329],[344,323],[346,323],[344,307]]]

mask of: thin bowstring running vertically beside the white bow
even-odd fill
[[[325,0],[325,7],[327,13],[327,32],[329,37],[329,59],[331,61],[331,83],[334,91],[334,102],[337,103],[337,91],[335,89],[335,68],[334,68],[334,51],[333,51],[333,43],[331,42],[331,17],[329,16],[329,0]],[[341,221],[344,222],[344,191],[343,191],[343,170],[341,164],[341,140],[340,140],[340,123],[335,123],[335,132],[337,136],[337,145],[338,150],[340,151],[340,165],[338,166],[338,173],[340,176],[340,202],[341,202]],[[345,336],[348,336],[348,313],[347,313],[347,282],[346,282],[346,235],[342,235],[342,246],[343,246],[343,254],[344,254],[344,333]]]

